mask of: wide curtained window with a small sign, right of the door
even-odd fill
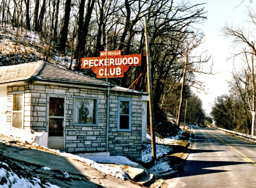
[[[96,112],[96,98],[74,98],[74,124],[96,124]]]

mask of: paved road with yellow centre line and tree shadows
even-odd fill
[[[256,143],[209,128],[193,135],[184,168],[161,188],[256,188]]]

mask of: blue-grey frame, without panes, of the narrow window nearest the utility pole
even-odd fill
[[[129,116],[129,129],[121,129],[120,128],[120,115],[126,115],[126,114],[120,114],[120,102],[121,101],[127,101],[129,102],[129,114],[127,116]],[[131,113],[131,109],[132,108],[132,99],[131,98],[126,98],[126,97],[118,97],[118,131],[126,131],[126,132],[130,132],[131,131],[131,118],[132,118],[132,113]]]

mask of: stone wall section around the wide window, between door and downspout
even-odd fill
[[[102,152],[106,151],[106,91],[68,88],[66,105],[66,151]],[[74,96],[97,98],[97,124],[74,125]],[[68,110],[67,110],[68,109]]]

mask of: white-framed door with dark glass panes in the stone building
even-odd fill
[[[65,148],[65,104],[65,96],[48,96],[47,132],[51,149]]]

